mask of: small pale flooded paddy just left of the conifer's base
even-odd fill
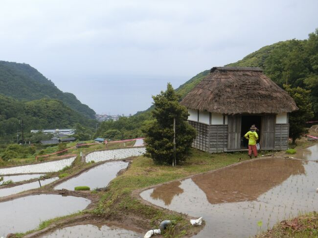
[[[109,151],[95,151],[86,155],[86,162],[106,161],[111,159],[125,159],[132,156],[139,156],[146,152],[146,148],[129,148],[129,149],[117,149]]]

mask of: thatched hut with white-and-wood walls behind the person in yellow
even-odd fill
[[[213,67],[181,104],[197,130],[192,146],[209,152],[245,150],[244,135],[253,124],[262,150],[286,150],[288,113],[298,109],[257,67]]]

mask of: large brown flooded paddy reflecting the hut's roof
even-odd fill
[[[298,212],[318,210],[318,163],[262,159],[142,192],[170,210],[203,216],[196,238],[244,238]]]

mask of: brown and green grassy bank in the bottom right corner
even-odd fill
[[[317,238],[318,213],[308,213],[294,219],[281,221],[272,230],[256,238]]]

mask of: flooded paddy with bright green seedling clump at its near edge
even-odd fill
[[[77,177],[57,185],[54,189],[74,190],[76,186],[89,186],[91,190],[105,188],[120,170],[127,168],[128,164],[128,162],[114,161],[98,165]]]

